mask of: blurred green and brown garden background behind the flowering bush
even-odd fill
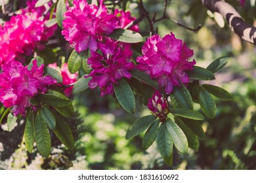
[[[14,12],[24,7],[24,2],[6,1],[5,10]],[[240,7],[238,1],[228,0],[228,3],[240,12],[245,22],[256,25],[255,1],[247,0],[244,7]],[[155,12],[158,12],[156,16],[161,16],[162,0],[145,0],[144,5],[150,16]],[[127,10],[133,16],[139,15],[137,4],[132,1],[127,4]],[[6,12],[0,13],[0,22],[9,19]],[[172,31],[178,39],[184,40],[194,50],[197,65],[206,67],[215,58],[230,56],[227,67],[211,82],[232,93],[234,100],[216,99],[217,115],[202,123],[205,140],[200,141],[198,152],[189,150],[182,155],[175,151],[173,167],[167,167],[156,144],[145,152],[141,147],[142,136],[125,140],[129,125],[149,112],[146,107],[138,104],[135,115],[131,115],[119,108],[112,96],[101,98],[98,90],[87,90],[72,96],[77,112],[66,119],[74,133],[74,150],[67,150],[52,135],[53,150],[49,158],[43,159],[36,149],[29,154],[22,139],[24,120],[20,120],[11,132],[3,122],[0,126],[0,169],[256,169],[255,46],[232,33],[219,16],[202,6],[201,0],[173,0],[169,2],[167,15],[188,27],[202,24],[198,32],[169,20],[155,25],[161,37]],[[148,37],[146,20],[139,26],[141,34]],[[71,49],[63,41],[60,29],[50,43],[39,55],[49,63],[56,61],[58,64],[68,58]]]

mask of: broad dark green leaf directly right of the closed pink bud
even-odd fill
[[[183,84],[181,87],[175,86],[173,89],[171,103],[177,108],[193,109],[192,97]]]

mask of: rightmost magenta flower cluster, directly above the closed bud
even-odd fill
[[[166,93],[173,91],[173,86],[181,86],[180,82],[189,82],[185,71],[192,70],[196,61],[188,61],[193,56],[190,50],[175,35],[159,35],[148,38],[142,46],[142,56],[137,58],[137,68],[145,71],[151,78],[156,78],[158,84]]]

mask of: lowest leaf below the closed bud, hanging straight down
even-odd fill
[[[158,130],[158,137],[156,139],[158,152],[163,158],[169,158],[173,153],[173,141],[171,134],[167,130],[166,122],[161,123]]]

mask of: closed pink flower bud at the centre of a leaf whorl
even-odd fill
[[[152,114],[160,118],[161,122],[164,122],[167,118],[167,114],[169,114],[167,99],[158,91],[154,93],[152,98],[148,99],[148,108],[152,111]]]

